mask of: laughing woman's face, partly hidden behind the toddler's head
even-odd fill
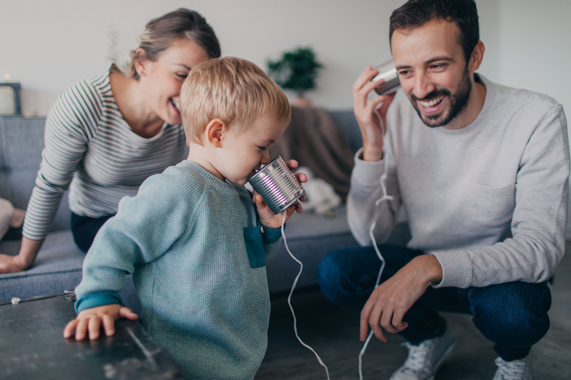
[[[180,87],[192,67],[210,59],[203,47],[189,39],[175,40],[156,61],[137,65],[142,97],[151,111],[169,124],[182,124]]]

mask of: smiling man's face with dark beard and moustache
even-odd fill
[[[458,35],[455,23],[433,20],[391,38],[403,91],[428,126],[448,125],[470,100],[472,72]]]

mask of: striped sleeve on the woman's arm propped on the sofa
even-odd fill
[[[42,162],[26,210],[23,235],[42,240],[101,117],[101,99],[85,80],[59,96],[46,119]]]

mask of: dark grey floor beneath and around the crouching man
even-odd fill
[[[566,251],[568,255],[557,268],[551,288],[551,328],[532,349],[536,380],[571,379],[571,242]],[[299,336],[323,359],[331,380],[359,379],[359,313],[330,303],[318,289],[294,292],[292,304]],[[496,370],[492,343],[481,336],[470,316],[444,315],[457,345],[436,380],[491,379]],[[407,357],[402,342],[393,334],[389,334],[387,344],[373,337],[363,357],[363,378],[388,379]],[[326,379],[313,353],[296,340],[287,295],[272,297],[268,350],[255,379]]]

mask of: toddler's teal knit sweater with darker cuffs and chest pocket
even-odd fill
[[[267,346],[265,261],[280,236],[262,233],[243,186],[183,161],[119,202],[87,252],[76,309],[120,303],[132,273],[144,326],[186,379],[252,379]]]

